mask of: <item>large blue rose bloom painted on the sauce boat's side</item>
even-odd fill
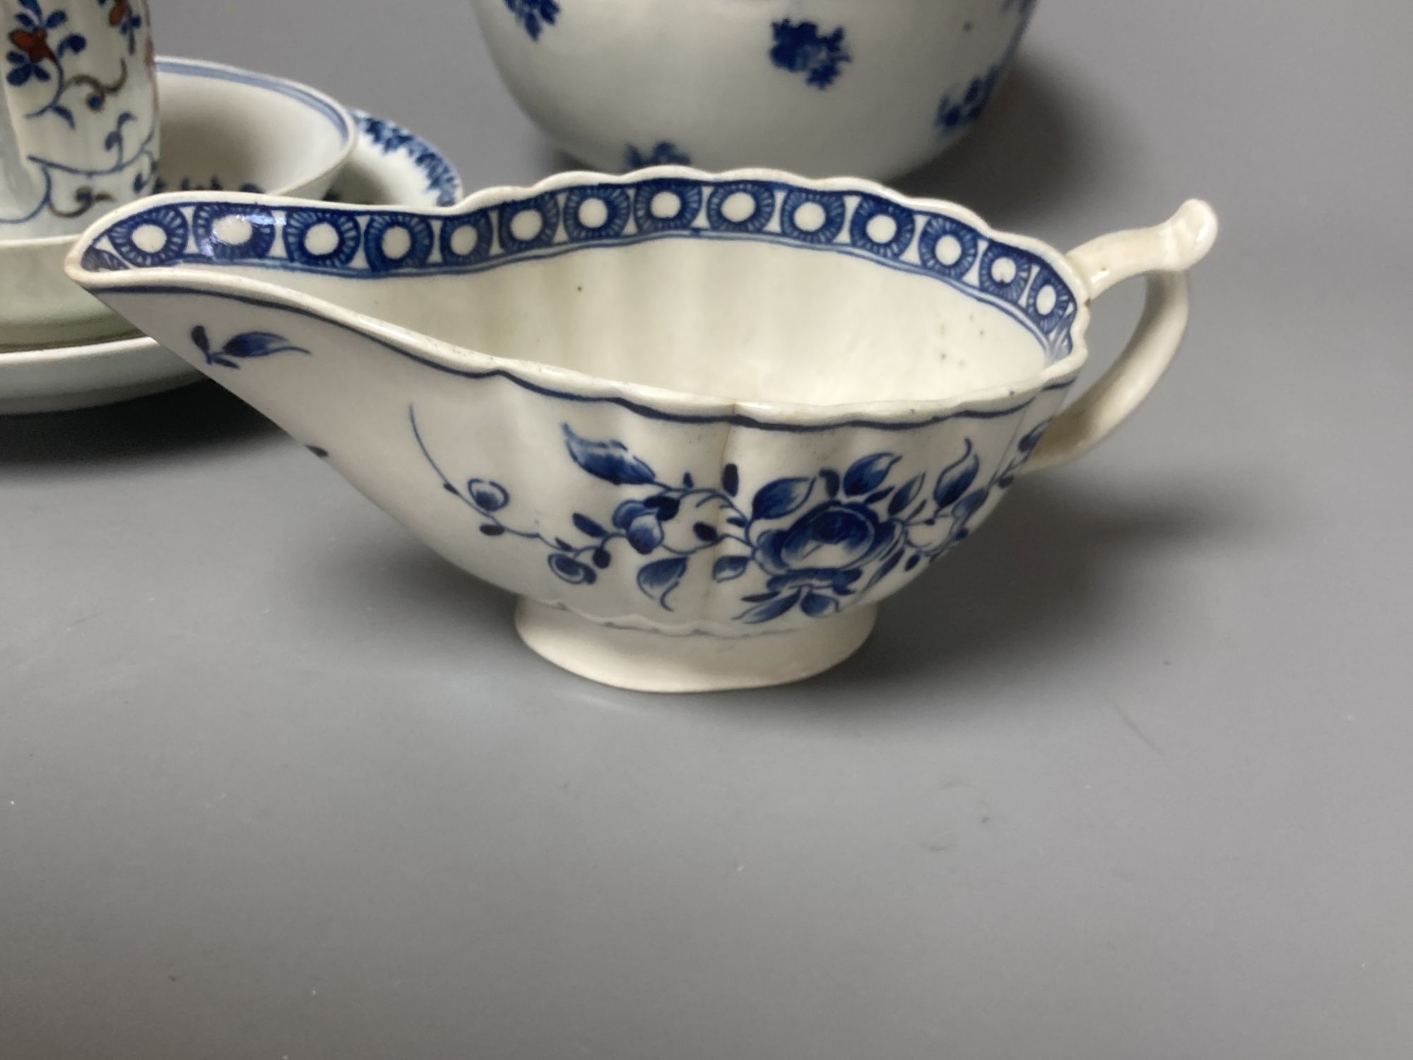
[[[787,530],[760,536],[756,560],[770,589],[812,585],[848,592],[865,564],[897,538],[897,523],[880,520],[869,505],[827,500],[805,512]]]

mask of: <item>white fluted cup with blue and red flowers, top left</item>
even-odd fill
[[[151,191],[147,0],[0,0],[0,242],[73,235]]]

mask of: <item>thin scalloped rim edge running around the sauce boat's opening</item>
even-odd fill
[[[575,397],[588,399],[627,399],[629,401],[651,406],[667,416],[711,416],[738,417],[763,423],[779,423],[781,425],[796,425],[808,423],[811,425],[828,425],[848,420],[873,420],[883,423],[935,420],[962,410],[988,410],[1006,404],[1016,404],[1017,399],[1029,400],[1041,390],[1057,386],[1068,386],[1078,376],[1088,358],[1085,331],[1089,324],[1088,302],[1089,288],[1070,264],[1068,259],[1031,236],[1003,232],[988,225],[978,213],[945,199],[931,199],[903,195],[876,181],[855,177],[829,177],[814,179],[771,168],[742,168],[722,172],[708,172],[685,165],[658,165],[633,170],[626,174],[605,174],[589,170],[569,170],[554,174],[530,185],[497,185],[473,192],[454,206],[425,208],[415,211],[421,216],[452,218],[472,213],[487,206],[499,206],[516,199],[528,199],[545,192],[555,192],[577,184],[637,184],[649,179],[687,178],[698,181],[733,181],[757,179],[788,184],[807,191],[835,191],[835,192],[863,192],[889,199],[900,206],[916,211],[934,211],[947,213],[975,228],[988,239],[995,239],[1010,246],[1029,250],[1043,259],[1070,285],[1075,294],[1075,318],[1070,325],[1072,342],[1071,352],[1053,365],[1048,365],[1034,375],[1015,382],[991,387],[982,387],[947,397],[927,399],[918,401],[869,401],[846,404],[800,404],[784,401],[735,401],[729,399],[692,394],[670,387],[644,386],[596,376],[577,369],[558,367],[534,360],[504,358],[480,351],[458,346],[442,339],[422,335],[410,328],[387,324],[376,317],[346,310],[333,302],[309,295],[292,294],[287,288],[264,280],[252,280],[242,276],[218,274],[211,269],[192,269],[182,266],[167,266],[157,269],[134,269],[126,271],[89,271],[83,269],[83,253],[96,243],[114,223],[129,216],[143,213],[154,206],[191,205],[191,204],[232,204],[232,205],[261,205],[270,208],[298,208],[308,205],[302,199],[292,199],[276,195],[246,195],[230,192],[172,192],[153,195],[134,204],[124,205],[106,213],[99,222],[90,226],[79,237],[78,243],[68,253],[64,269],[69,278],[85,290],[100,294],[106,290],[141,290],[160,288],[164,284],[170,288],[185,291],[199,291],[218,297],[235,297],[254,305],[270,305],[274,308],[291,310],[317,319],[335,324],[348,331],[367,335],[382,343],[394,346],[420,360],[439,365],[452,372],[502,372],[516,376],[528,384],[564,390]],[[373,208],[376,209],[376,206]]]

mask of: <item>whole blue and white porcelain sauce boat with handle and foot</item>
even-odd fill
[[[1215,233],[1191,201],[1061,254],[868,181],[658,167],[425,211],[157,196],[68,270],[517,594],[545,659],[705,691],[839,663],[1022,471],[1108,435]],[[1139,274],[1061,411],[1088,304]]]

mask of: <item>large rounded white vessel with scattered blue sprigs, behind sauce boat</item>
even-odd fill
[[[471,0],[521,109],[601,170],[886,179],[975,123],[1033,0]]]

